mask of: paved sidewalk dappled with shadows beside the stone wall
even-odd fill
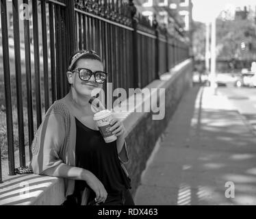
[[[226,198],[227,182],[235,198]],[[191,88],[153,153],[137,205],[256,205],[256,137],[225,96]]]

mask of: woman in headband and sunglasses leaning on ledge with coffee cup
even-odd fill
[[[101,57],[78,51],[66,73],[71,88],[49,108],[31,146],[30,167],[35,174],[63,177],[65,204],[134,205],[123,123],[110,125],[117,140],[105,143],[89,103],[92,90],[107,79]]]

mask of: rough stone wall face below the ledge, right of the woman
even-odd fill
[[[180,71],[173,73],[175,76],[166,87],[166,115],[164,120],[152,120],[152,114],[146,113],[126,138],[130,157],[127,170],[131,176],[131,192],[133,195],[140,184],[140,176],[146,168],[146,162],[157,139],[166,129],[182,95],[192,84],[192,68],[192,62],[189,62]]]

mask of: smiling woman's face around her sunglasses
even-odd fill
[[[68,75],[68,82],[71,83],[77,94],[91,96],[92,90],[103,88],[102,83],[95,81],[94,75],[88,81],[82,81],[79,78],[77,68],[88,68],[94,73],[95,71],[103,71],[103,64],[98,60],[81,59],[77,61],[76,67],[74,68],[75,71],[73,71],[73,74]]]

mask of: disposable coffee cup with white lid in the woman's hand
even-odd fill
[[[93,120],[97,123],[99,131],[103,136],[106,143],[114,142],[117,140],[116,136],[110,131],[110,121],[113,119],[112,112],[110,110],[102,110],[94,114]]]

